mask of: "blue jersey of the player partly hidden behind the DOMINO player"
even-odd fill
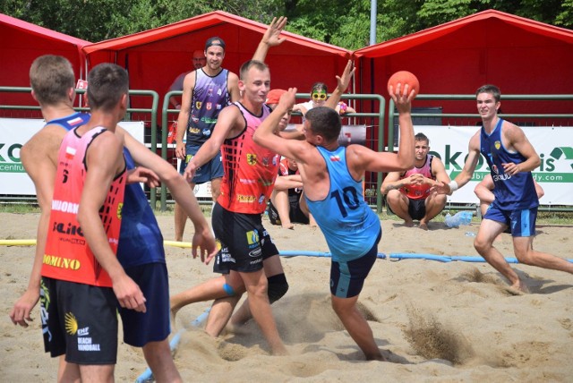
[[[135,167],[129,150],[124,148],[125,165]],[[166,263],[163,235],[147,196],[139,183],[125,185],[122,226],[119,232],[117,260],[124,268],[149,263]]]

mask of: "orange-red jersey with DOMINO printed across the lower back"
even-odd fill
[[[85,285],[111,287],[111,279],[101,268],[91,252],[77,220],[81,191],[85,182],[86,152],[99,134],[107,132],[102,127],[91,129],[79,137],[76,129],[67,132],[58,156],[54,198],[50,212],[43,277],[77,282]],[[117,175],[99,210],[102,225],[112,251],[117,250],[121,212],[124,202],[126,173]]]

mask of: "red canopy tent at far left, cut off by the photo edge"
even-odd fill
[[[85,59],[81,47],[90,44],[90,41],[48,30],[3,13],[0,13],[0,36],[1,86],[30,87],[30,65],[39,55],[63,55],[72,63],[76,77],[85,77]],[[0,92],[0,104],[37,103],[28,94]]]

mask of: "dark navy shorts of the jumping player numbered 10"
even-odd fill
[[[378,258],[378,243],[382,231],[378,234],[376,242],[366,254],[355,260],[335,261],[330,263],[330,293],[338,298],[352,298],[360,294],[364,279],[374,266]]]

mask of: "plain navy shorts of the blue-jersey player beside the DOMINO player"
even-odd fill
[[[150,342],[167,339],[171,332],[169,318],[169,280],[165,263],[126,268],[125,273],[140,286],[145,296],[146,312],[117,306],[124,326],[124,342],[143,347]]]

